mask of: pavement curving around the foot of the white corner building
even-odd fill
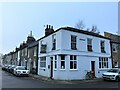
[[[51,79],[49,77],[41,76],[41,75],[34,75],[30,74],[30,77],[33,79],[41,80],[41,81],[47,81],[47,82],[53,82],[53,83],[59,83],[59,84],[80,84],[80,83],[92,83],[92,82],[100,82],[103,81],[101,78],[95,78],[92,80],[55,80]]]

